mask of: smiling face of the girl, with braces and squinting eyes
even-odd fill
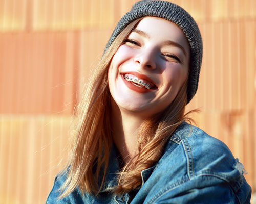
[[[110,63],[112,105],[144,117],[164,110],[187,78],[189,57],[187,38],[177,25],[143,18]]]

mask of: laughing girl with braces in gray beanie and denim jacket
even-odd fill
[[[249,203],[243,165],[185,122],[201,61],[201,34],[184,9],[137,2],[87,86],[47,203]]]

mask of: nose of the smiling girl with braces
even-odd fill
[[[134,61],[141,68],[156,69],[156,52],[153,49],[141,49],[135,56]]]

